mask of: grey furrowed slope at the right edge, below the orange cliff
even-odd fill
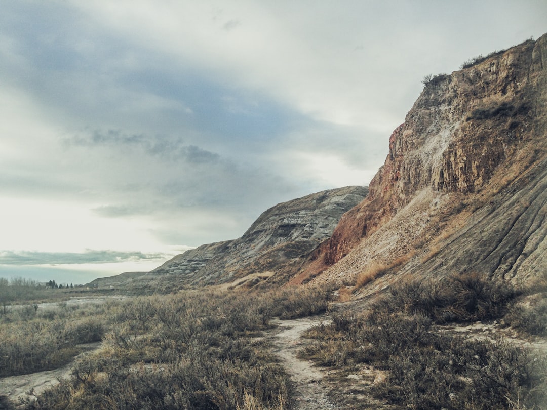
[[[469,212],[461,229],[439,241],[434,254],[423,257],[420,266],[409,266],[406,270],[428,276],[481,272],[493,279],[519,282],[544,277],[547,160],[534,163],[488,199]]]

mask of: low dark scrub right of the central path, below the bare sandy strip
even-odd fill
[[[502,339],[438,332],[431,324],[420,314],[374,310],[355,324],[331,325],[327,333],[333,338],[321,335],[301,355],[327,366],[365,362],[387,371],[372,392],[396,408],[478,410],[516,402],[520,408],[542,408],[545,356]]]

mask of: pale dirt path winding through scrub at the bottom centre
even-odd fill
[[[275,353],[281,359],[295,384],[297,408],[301,410],[323,410],[336,408],[329,402],[324,385],[324,373],[311,361],[300,360],[296,353],[302,346],[301,334],[306,329],[328,321],[325,318],[304,318],[274,320],[277,327],[269,337],[275,346]]]

